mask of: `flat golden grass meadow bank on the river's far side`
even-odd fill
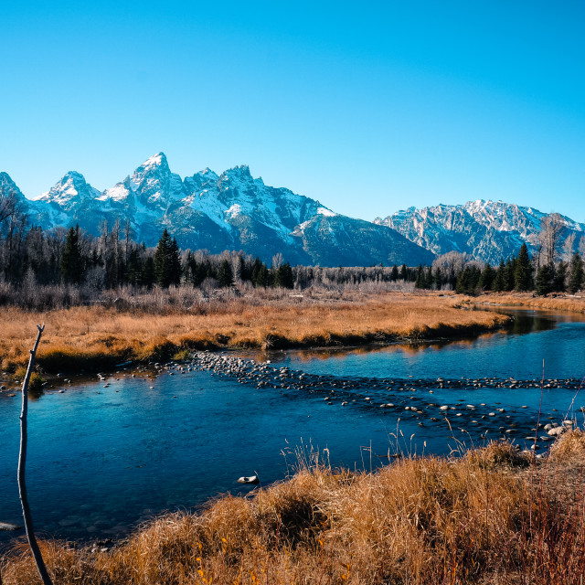
[[[56,374],[163,361],[194,349],[357,346],[473,335],[509,321],[471,309],[452,294],[398,292],[243,297],[164,314],[126,305],[47,313],[3,308],[0,367],[14,372],[26,365],[37,323],[46,324],[37,364]]]

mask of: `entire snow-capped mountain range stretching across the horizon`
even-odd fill
[[[30,223],[43,229],[79,224],[97,236],[106,224],[111,229],[116,221],[122,227],[129,222],[133,239],[146,246],[155,246],[166,228],[182,249],[243,250],[264,261],[280,252],[292,264],[322,266],[430,264],[452,250],[496,263],[515,254],[523,242],[534,251],[547,215],[532,207],[479,200],[410,207],[368,222],[289,189],[267,186],[245,165],[221,175],[206,168],[183,179],[171,172],[163,153],[104,191],[70,171],[34,200],[0,173],[2,192],[14,193]],[[569,238],[577,250],[585,224],[558,218],[563,239]]]

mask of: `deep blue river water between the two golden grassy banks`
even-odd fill
[[[249,492],[239,476],[281,480],[293,472],[295,449],[301,459],[318,451],[335,466],[369,469],[396,452],[448,453],[491,438],[524,448],[539,417],[560,421],[568,413],[583,423],[585,323],[566,315],[517,312],[513,327],[463,341],[239,356],[270,360],[274,374],[288,367],[319,384],[262,386],[197,368],[127,369],[31,399],[27,487],[37,532],[119,537],[165,510]],[[557,388],[541,391],[543,360]],[[484,378],[526,383],[478,385]],[[394,408],[380,408],[389,402]],[[469,403],[476,410],[465,410]],[[449,421],[439,405],[450,405]],[[0,394],[0,522],[16,524],[19,412],[19,394]],[[19,536],[0,532],[0,544]]]

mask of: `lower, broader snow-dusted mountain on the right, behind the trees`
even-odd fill
[[[533,207],[480,199],[464,205],[409,207],[374,222],[396,229],[435,254],[456,250],[466,252],[475,260],[495,264],[516,254],[525,242],[534,253],[546,217],[547,214]],[[571,250],[579,250],[580,239],[585,238],[585,224],[565,216],[557,218],[563,225],[561,247],[574,234]]]

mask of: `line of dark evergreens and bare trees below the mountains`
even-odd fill
[[[530,258],[527,245],[499,266],[470,260],[449,252],[431,266],[337,267],[295,266],[276,254],[268,265],[242,251],[210,254],[206,250],[180,250],[165,229],[154,248],[132,238],[130,223],[112,226],[104,221],[100,236],[75,228],[43,230],[27,227],[27,217],[15,197],[0,193],[0,282],[14,287],[67,284],[93,290],[122,286],[152,289],[154,286],[226,288],[237,282],[254,287],[303,289],[314,284],[344,287],[371,282],[397,282],[427,290],[536,291],[537,294],[576,293],[585,284],[580,253],[566,252],[558,260],[561,224],[552,216],[543,229]],[[565,247],[573,245],[565,240]]]

